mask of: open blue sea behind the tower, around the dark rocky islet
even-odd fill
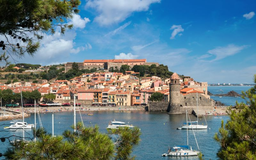
[[[225,94],[230,91],[235,91],[239,94],[241,94],[242,91],[247,91],[249,88],[252,88],[252,86],[208,86],[208,91],[212,94]],[[222,90],[223,92],[220,92],[219,90]],[[211,96],[211,99],[216,101],[221,101],[226,106],[234,106],[237,102],[244,102],[246,101],[242,99],[241,97],[219,97],[219,96]]]

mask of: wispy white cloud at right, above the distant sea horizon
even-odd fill
[[[215,47],[214,49],[209,50],[208,53],[216,56],[212,61],[221,60],[225,57],[232,56],[247,47],[248,45],[237,46],[234,44],[228,44],[228,46],[225,47]]]

